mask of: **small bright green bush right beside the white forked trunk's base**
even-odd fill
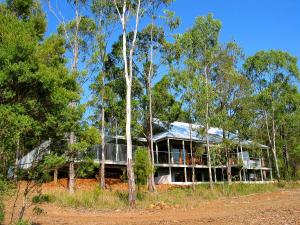
[[[137,148],[134,155],[134,174],[138,185],[146,184],[148,176],[153,172],[148,152],[144,148]]]

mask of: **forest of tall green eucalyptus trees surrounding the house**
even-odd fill
[[[300,178],[297,57],[278,49],[245,55],[235,41],[220,41],[222,23],[213,14],[179,33],[182,18],[169,10],[172,3],[66,1],[71,20],[55,1],[0,3],[0,180],[36,185],[64,167],[72,194],[93,164],[85,153],[117,134],[126,138],[128,204],[135,207],[132,139],[147,141],[146,183],[155,192],[156,120],[202,124],[198,132],[206,137],[220,127],[267,145],[274,177]],[[55,33],[46,32],[49,18],[59,24]],[[19,159],[47,140],[51,153],[28,171],[18,169]],[[226,135],[222,146],[230,146]]]

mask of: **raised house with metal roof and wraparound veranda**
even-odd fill
[[[196,182],[208,182],[206,137],[200,134],[202,126],[184,122],[173,122],[168,126],[158,122],[158,125],[162,131],[153,136],[155,182],[157,184],[191,184],[193,167]],[[214,182],[227,179],[227,167],[231,169],[233,182],[266,182],[273,179],[268,146],[250,140],[239,140],[238,136],[233,133],[226,133],[226,136],[233,143],[233,147],[227,152],[227,163],[217,160],[217,158],[222,158],[220,155],[211,154]],[[209,129],[212,152],[222,143],[222,137],[221,129]],[[137,146],[146,146],[146,139],[134,139],[133,145],[134,152]],[[252,151],[254,145],[258,148],[258,152]],[[93,148],[96,162],[101,160],[99,148],[100,146]],[[203,148],[204,153],[197,155],[197,148]],[[120,174],[120,171],[126,168],[125,138],[123,136],[107,137],[104,151],[107,174]],[[194,159],[194,165],[192,159]]]

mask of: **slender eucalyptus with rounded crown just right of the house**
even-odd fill
[[[278,99],[286,82],[299,79],[297,58],[283,51],[260,51],[246,60],[244,69],[247,77],[253,83],[257,111],[265,123],[268,141],[273,152],[276,174],[279,179],[276,144]]]

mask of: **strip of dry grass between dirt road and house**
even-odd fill
[[[156,194],[145,189],[137,193],[137,208],[148,208],[152,204],[163,202],[168,206],[195,207],[202,201],[220,198],[239,197],[256,193],[300,188],[299,182],[279,182],[270,184],[215,184],[213,189],[207,184],[191,187],[174,186]],[[74,195],[67,191],[49,193],[53,201],[63,207],[85,209],[125,209],[128,207],[127,191],[78,190]]]

